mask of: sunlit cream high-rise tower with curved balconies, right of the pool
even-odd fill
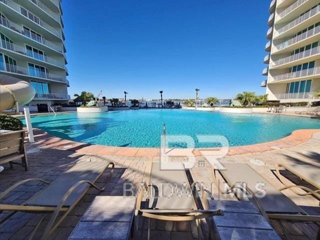
[[[261,82],[269,100],[314,101],[320,89],[320,0],[272,0]]]

